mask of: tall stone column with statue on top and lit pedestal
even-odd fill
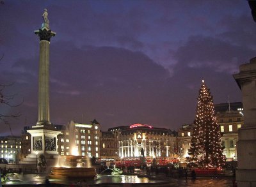
[[[31,154],[49,155],[58,154],[56,147],[57,135],[61,133],[56,130],[50,122],[50,106],[49,106],[49,56],[50,56],[50,40],[56,33],[51,31],[48,20],[47,10],[42,15],[44,22],[35,34],[40,39],[40,59],[39,59],[39,75],[38,75],[38,122],[32,126],[28,132],[31,134]],[[29,158],[28,156],[28,158]],[[52,157],[52,156],[51,156]]]

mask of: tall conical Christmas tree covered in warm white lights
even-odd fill
[[[195,167],[222,167],[225,163],[221,148],[220,125],[217,122],[210,90],[202,80],[194,121],[189,163]]]

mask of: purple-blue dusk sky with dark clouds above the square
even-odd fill
[[[13,86],[1,114],[14,135],[38,118],[39,38],[44,8],[52,31],[51,123],[101,130],[134,123],[177,130],[193,123],[202,84],[214,103],[241,101],[232,77],[256,56],[256,24],[244,0],[18,1],[0,3],[0,84]],[[1,123],[0,135],[10,135]]]

